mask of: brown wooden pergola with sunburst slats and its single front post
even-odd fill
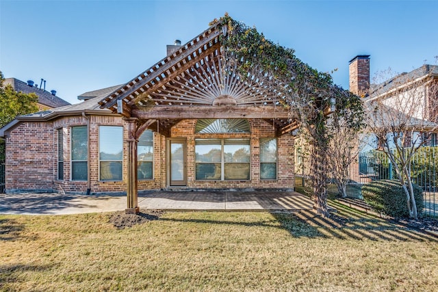
[[[279,93],[253,76],[243,80],[223,56],[226,34],[227,27],[209,27],[100,102],[128,125],[127,213],[138,212],[137,142],[146,129],[170,137],[177,122],[202,118],[263,119],[276,135],[296,129]]]

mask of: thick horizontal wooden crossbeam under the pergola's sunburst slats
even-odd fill
[[[214,107],[212,105],[155,105],[132,107],[132,116],[140,119],[190,119],[190,118],[288,118],[283,107],[240,106]]]

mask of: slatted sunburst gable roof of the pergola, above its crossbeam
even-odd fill
[[[117,101],[144,105],[273,105],[276,92],[259,79],[243,81],[232,61],[222,57],[220,36],[212,25],[101,101],[117,111]],[[219,100],[218,100],[219,99]]]

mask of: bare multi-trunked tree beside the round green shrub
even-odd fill
[[[385,80],[374,88],[365,102],[370,132],[376,137],[378,150],[385,152],[407,198],[410,217],[418,211],[413,193],[411,163],[417,150],[438,129],[438,79],[436,66],[424,65],[409,73],[394,76],[389,69],[376,80]]]

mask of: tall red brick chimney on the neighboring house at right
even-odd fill
[[[370,93],[370,55],[357,55],[350,60],[350,92],[359,96]]]

